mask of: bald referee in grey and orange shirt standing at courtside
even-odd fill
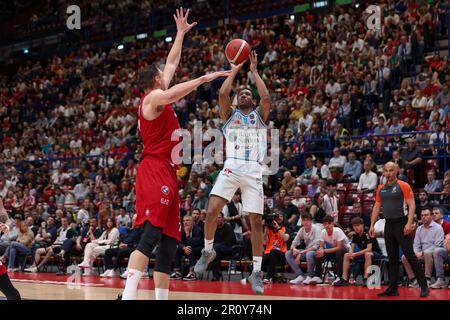
[[[383,174],[386,178],[386,184],[378,186],[369,230],[369,235],[374,237],[374,225],[382,208],[383,216],[386,219],[384,238],[389,258],[389,287],[378,296],[392,297],[399,295],[397,288],[400,268],[399,247],[401,247],[419,282],[420,296],[427,297],[430,293],[427,280],[414,253],[414,239],[411,235],[411,225],[416,211],[414,193],[409,184],[397,180],[398,166],[395,163],[386,163]],[[408,210],[406,210],[406,205]]]

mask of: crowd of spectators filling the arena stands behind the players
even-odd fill
[[[339,260],[339,278],[348,280],[350,261],[372,258],[373,248],[358,245],[367,251],[355,254],[348,241],[356,234],[364,242],[361,228],[353,227],[367,227],[387,161],[396,162],[399,178],[417,191],[418,223],[424,210],[436,207],[443,216],[439,223],[445,224],[450,175],[443,170],[446,159],[437,156],[447,148],[442,141],[450,125],[450,65],[448,57],[433,52],[435,38],[446,30],[435,24],[439,2],[385,1],[381,32],[366,29],[362,9],[342,6],[294,20],[236,22],[193,31],[185,39],[174,83],[227,69],[223,48],[233,38],[245,39],[260,57],[273,101],[270,127],[279,129],[281,145],[280,169],[264,179],[265,217],[275,214],[281,232],[266,228],[265,282],[273,281],[286,262],[298,278],[293,261],[302,259],[308,262],[308,276],[320,277],[320,262],[330,254]],[[48,61],[24,61],[13,76],[0,78],[0,196],[14,227],[2,236],[0,250],[10,270],[17,254],[32,253],[32,272],[57,255],[63,274],[71,257],[79,255],[85,274],[102,256],[103,275],[118,274],[120,264],[112,257],[121,261],[139,238],[132,228],[141,148],[137,71],[153,61],[164,63],[170,45],[164,39],[127,44],[123,50],[84,45]],[[206,84],[174,104],[183,128],[220,126],[220,84]],[[254,85],[245,68],[234,89],[241,85]],[[324,152],[327,148],[333,148],[332,155]],[[184,228],[173,278],[195,279],[198,238],[220,169],[194,158],[177,171]],[[236,243],[251,256],[251,230],[239,195],[218,220],[216,280],[220,259],[233,255]],[[318,268],[312,267],[308,251],[295,251],[296,235],[307,237],[315,230],[303,220],[321,230],[320,241],[308,240],[305,249],[311,245],[317,251]],[[306,228],[303,233],[301,228]],[[327,248],[329,241],[338,247]],[[273,247],[274,242],[281,245]],[[187,275],[183,257],[189,261]]]

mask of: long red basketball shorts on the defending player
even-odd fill
[[[175,170],[159,158],[145,157],[136,177],[136,227],[145,221],[181,240],[180,195]]]

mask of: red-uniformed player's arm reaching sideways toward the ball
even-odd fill
[[[153,90],[149,95],[145,97],[144,103],[142,104],[142,112],[144,114],[144,117],[146,119],[151,119],[154,117],[155,111],[161,112],[160,110],[157,110],[158,106],[176,102],[181,98],[187,96],[203,83],[213,81],[214,79],[217,79],[219,77],[227,77],[230,74],[231,71],[213,72],[198,77],[194,80],[179,83],[167,90]]]

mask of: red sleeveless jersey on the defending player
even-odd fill
[[[156,119],[145,119],[142,113],[142,102],[149,93],[142,96],[139,105],[139,130],[144,145],[142,158],[155,156],[174,165],[172,150],[181,141],[181,131],[174,133],[175,130],[180,129],[177,114],[172,105],[168,104]]]

